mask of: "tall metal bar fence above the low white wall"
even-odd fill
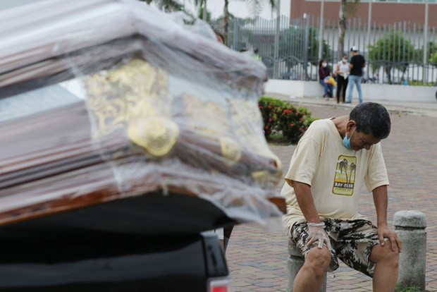
[[[273,20],[235,18],[230,23],[228,44],[235,50],[259,49],[269,78],[317,80],[320,59],[334,68],[338,56],[338,22],[305,16]],[[319,38],[321,37],[321,39]],[[437,85],[436,28],[403,22],[368,25],[360,18],[347,20],[345,54],[359,47],[367,61],[363,82],[379,84]],[[331,70],[332,71],[332,70]]]

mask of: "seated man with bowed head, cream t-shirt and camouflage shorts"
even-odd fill
[[[281,190],[288,236],[304,256],[293,291],[320,291],[338,259],[371,276],[373,291],[395,290],[402,244],[387,223],[380,143],[390,126],[385,107],[364,102],[347,116],[314,121],[298,142]],[[363,185],[373,193],[375,225],[358,212]]]

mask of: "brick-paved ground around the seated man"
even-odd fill
[[[312,116],[319,118],[342,116],[351,109],[323,102],[307,103],[306,106]],[[426,214],[426,291],[437,291],[437,115],[422,116],[423,112],[417,115],[407,110],[399,114],[392,109],[392,130],[382,142],[390,178],[388,221],[392,224],[393,214],[399,210],[414,209]],[[287,170],[295,147],[271,146],[271,149]],[[278,185],[278,192],[281,186]],[[360,210],[375,221],[371,193],[364,189]],[[235,292],[285,291],[287,247],[283,231],[236,226],[226,254]],[[327,290],[371,291],[371,279],[342,264],[337,271],[328,273]]]

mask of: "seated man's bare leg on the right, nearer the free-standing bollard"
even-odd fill
[[[374,292],[393,292],[398,281],[399,251],[391,249],[390,241],[375,245],[369,260],[375,263],[373,288]]]

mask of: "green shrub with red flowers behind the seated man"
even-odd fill
[[[259,110],[264,121],[267,140],[296,143],[315,120],[308,109],[304,107],[296,109],[289,102],[271,97],[259,99]]]

